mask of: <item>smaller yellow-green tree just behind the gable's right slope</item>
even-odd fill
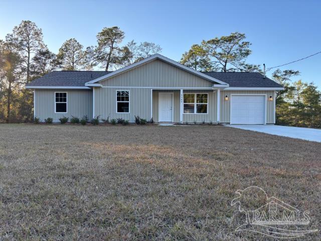
[[[180,62],[198,71],[211,71],[212,65],[206,53],[200,45],[194,44],[188,52],[183,54]]]

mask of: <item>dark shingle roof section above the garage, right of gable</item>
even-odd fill
[[[258,72],[202,72],[228,83],[230,87],[282,87]]]

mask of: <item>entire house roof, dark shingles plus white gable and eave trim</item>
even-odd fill
[[[115,76],[131,68],[138,67],[154,59],[161,59],[167,63],[184,69],[190,73],[213,82],[215,87],[228,89],[283,89],[283,86],[257,72],[199,72],[186,67],[160,54],[155,54],[137,63],[131,64],[116,71],[52,71],[26,85],[26,88],[79,88],[90,89],[90,85]],[[217,84],[219,83],[219,84]]]

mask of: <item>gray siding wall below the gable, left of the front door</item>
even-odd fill
[[[129,113],[117,113],[116,91],[129,90]],[[148,88],[94,88],[95,116],[123,118],[134,122],[134,115],[150,120],[150,89]]]

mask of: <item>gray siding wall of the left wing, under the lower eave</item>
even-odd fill
[[[67,113],[55,113],[55,92],[67,92]],[[35,116],[41,121],[52,117],[54,121],[59,121],[62,116],[79,118],[87,115],[92,117],[92,91],[91,90],[70,90],[70,89],[50,89],[35,91]]]

